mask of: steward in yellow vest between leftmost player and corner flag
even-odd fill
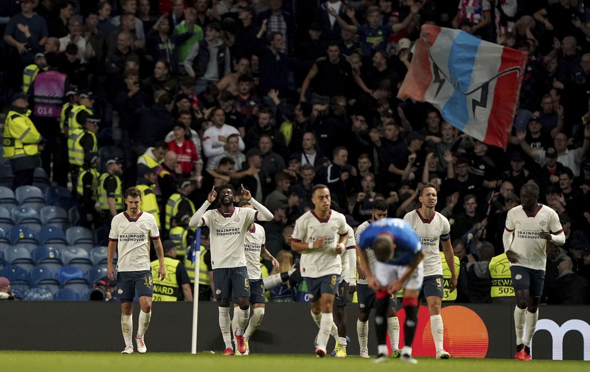
[[[153,301],[192,301],[191,281],[186,273],[186,268],[181,261],[176,259],[176,246],[174,242],[163,241],[164,266],[166,278],[153,278]],[[152,261],[152,274],[158,274],[159,262]]]

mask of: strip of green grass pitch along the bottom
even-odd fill
[[[418,364],[409,365],[399,359],[374,364],[360,357],[318,359],[314,355],[258,354],[247,357],[224,357],[215,354],[147,353],[122,355],[119,353],[63,352],[63,351],[0,351],[0,371],[277,371],[277,372],[379,372],[379,371],[432,371],[432,372],[508,372],[534,371],[577,372],[588,371],[583,361],[533,360],[519,362],[500,359],[435,360],[418,358]],[[398,369],[399,368],[399,369]]]

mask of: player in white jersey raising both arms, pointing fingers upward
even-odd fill
[[[244,255],[245,236],[255,220],[270,221],[273,213],[264,208],[244,189],[242,200],[250,202],[255,209],[234,207],[234,188],[225,184],[219,189],[221,208],[207,210],[217,199],[215,187],[207,196],[201,208],[192,216],[189,226],[198,228],[209,226],[211,248],[211,266],[213,267],[214,293],[218,302],[219,328],[225,342],[224,355],[233,355],[231,344],[230,299],[240,306],[238,311],[238,327],[235,330],[235,341],[240,353],[246,352],[244,331],[250,318],[250,282]]]

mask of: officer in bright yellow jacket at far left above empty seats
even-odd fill
[[[27,94],[15,93],[4,123],[2,156],[10,162],[14,190],[19,186],[32,185],[35,168],[41,165],[41,134],[29,118],[31,111],[28,106]]]

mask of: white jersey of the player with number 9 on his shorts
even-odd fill
[[[430,219],[424,219],[418,209],[406,213],[404,221],[408,222],[416,231],[422,250],[424,251],[424,276],[442,275],[442,264],[440,256],[440,241],[451,239],[449,235],[451,225],[448,219],[438,212]]]

